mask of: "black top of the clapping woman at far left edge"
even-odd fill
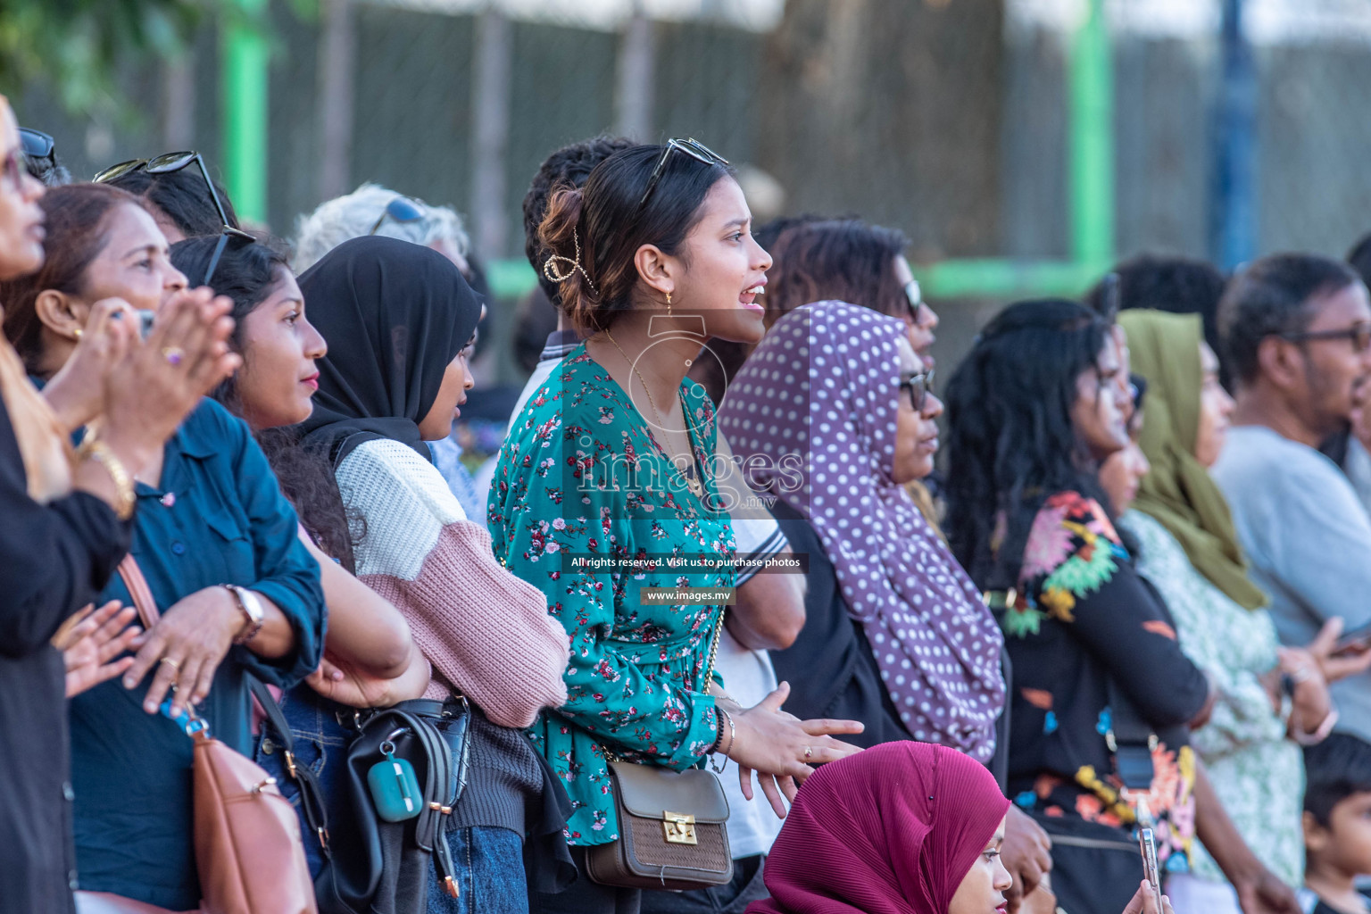
[[[0,907],[74,910],[71,785],[62,655],[48,639],[95,600],[130,526],[77,492],[41,506],[0,402]]]

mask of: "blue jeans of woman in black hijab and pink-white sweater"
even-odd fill
[[[447,833],[458,872],[452,898],[429,878],[429,914],[526,914],[524,839],[505,828],[455,828]]]

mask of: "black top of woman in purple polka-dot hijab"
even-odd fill
[[[805,626],[792,645],[771,655],[776,678],[790,682],[784,710],[801,719],[861,721],[866,725],[862,733],[842,739],[864,748],[913,739],[880,682],[880,667],[861,622],[847,614],[834,563],[814,528],[779,499],[772,514],[795,555],[809,558]]]

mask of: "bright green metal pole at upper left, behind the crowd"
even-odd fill
[[[223,175],[240,219],[266,222],[266,38],[243,19],[265,22],[269,0],[233,0],[223,34]]]

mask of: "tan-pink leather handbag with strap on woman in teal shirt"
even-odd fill
[[[160,613],[132,555],[119,576],[145,629]],[[300,819],[276,778],[210,736],[195,740],[195,862],[203,914],[317,914],[300,843]],[[151,914],[160,909],[106,892],[77,892],[81,914]]]

